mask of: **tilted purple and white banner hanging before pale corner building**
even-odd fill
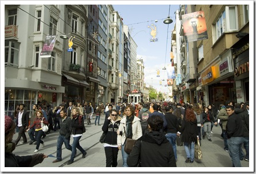
[[[40,57],[51,57],[57,35],[46,35]]]

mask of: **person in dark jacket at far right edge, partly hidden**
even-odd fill
[[[241,102],[235,106],[235,113],[242,119],[243,122],[243,147],[245,147],[246,155],[243,153],[242,148],[239,149],[239,157],[249,161],[249,114],[246,105]]]

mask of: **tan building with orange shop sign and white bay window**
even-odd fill
[[[208,39],[185,43],[181,21],[181,101],[249,101],[249,5],[181,5],[179,19],[195,11],[204,11]]]

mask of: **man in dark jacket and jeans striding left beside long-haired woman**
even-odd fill
[[[69,144],[70,141],[70,136],[72,132],[72,127],[71,127],[71,118],[67,117],[67,113],[64,109],[60,111],[60,135],[57,140],[57,159],[52,161],[52,163],[56,163],[61,161],[61,147],[63,143],[65,144],[66,149],[72,152],[72,147]]]

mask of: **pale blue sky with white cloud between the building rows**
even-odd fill
[[[169,1],[170,2],[170,1]],[[146,86],[152,85],[160,92],[167,92],[167,73],[162,68],[170,64],[170,44],[172,30],[176,21],[174,12],[179,10],[179,5],[113,5],[118,11],[123,24],[128,25],[131,37],[137,44],[137,58],[144,62],[144,82]],[[169,11],[170,9],[170,11]],[[164,19],[168,16],[173,20],[168,25]],[[157,22],[155,22],[157,20]],[[150,42],[152,35],[148,26],[152,24],[157,28],[157,41]],[[167,46],[167,49],[166,49]],[[160,70],[160,77],[157,77],[157,70]],[[162,80],[165,81],[162,81]],[[160,85],[160,81],[162,85]]]

